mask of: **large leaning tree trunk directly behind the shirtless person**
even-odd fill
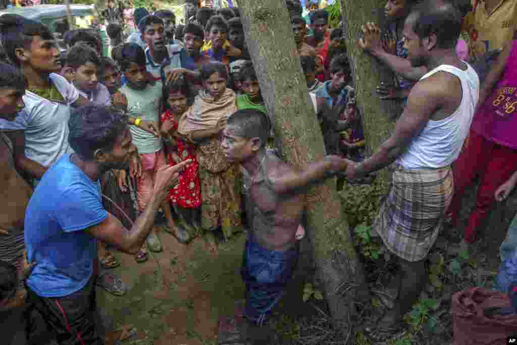
[[[322,159],[325,148],[282,0],[238,0],[246,42],[277,145],[295,169]],[[310,189],[308,235],[335,325],[346,326],[358,293],[368,294],[362,265],[343,219],[335,179]],[[362,295],[364,296],[364,295]],[[344,328],[346,329],[346,328]]]

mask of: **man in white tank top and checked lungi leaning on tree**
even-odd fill
[[[455,52],[460,29],[460,13],[450,5],[424,3],[409,14],[403,31],[407,59],[429,72],[411,90],[391,137],[369,159],[348,162],[348,178],[396,163],[373,228],[400,269],[386,290],[375,292],[391,309],[366,327],[373,341],[397,335],[402,317],[420,296],[427,282],[424,259],[452,198],[450,164],[461,151],[479,97],[476,72]]]

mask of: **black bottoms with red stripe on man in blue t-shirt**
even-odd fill
[[[65,297],[41,297],[27,288],[27,343],[42,344],[42,337],[50,333],[58,344],[103,344],[95,322],[96,308],[95,276]]]

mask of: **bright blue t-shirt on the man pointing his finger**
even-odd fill
[[[84,229],[107,217],[99,182],[63,155],[41,178],[25,213],[27,259],[37,263],[28,286],[42,297],[81,290],[97,255],[96,239]]]

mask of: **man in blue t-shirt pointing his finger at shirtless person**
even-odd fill
[[[75,110],[68,126],[75,154],[64,155],[43,175],[27,206],[27,258],[36,262],[27,279],[27,311],[42,314],[60,344],[101,344],[94,323],[96,240],[136,253],[185,164],[159,170],[153,199],[128,231],[102,206],[99,185],[108,170],[127,169],[136,153],[125,117],[89,105]],[[40,325],[28,319],[28,341],[37,343]]]

